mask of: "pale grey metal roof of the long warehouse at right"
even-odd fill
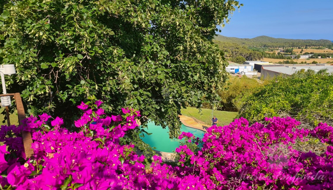
[[[297,71],[300,71],[302,69],[308,70],[314,70],[316,72],[326,69],[327,72],[333,73],[333,65],[309,65],[309,66],[285,66],[285,67],[264,67],[264,70],[269,70],[269,71],[275,71],[278,73],[283,73],[287,75],[292,75]],[[262,72],[262,71],[261,71]]]

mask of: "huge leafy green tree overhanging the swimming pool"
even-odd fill
[[[214,100],[226,80],[223,53],[212,39],[239,6],[233,0],[3,1],[0,61],[17,69],[8,91],[21,92],[30,112],[66,120],[95,95],[107,113],[139,109],[142,123],[169,126],[175,137],[180,108]]]

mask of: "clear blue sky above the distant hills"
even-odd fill
[[[333,0],[239,0],[230,23],[218,33],[228,37],[270,36],[333,40]],[[218,27],[220,28],[220,27]]]

